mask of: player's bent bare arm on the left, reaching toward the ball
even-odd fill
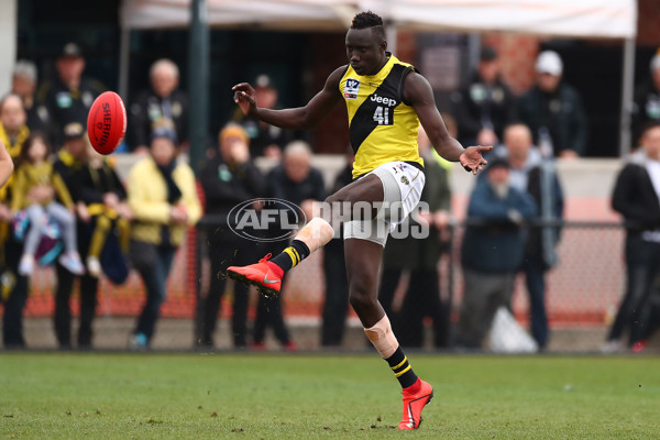
[[[243,114],[271,125],[293,130],[309,129],[318,124],[340,101],[339,81],[344,70],[345,66],[330,74],[321,91],[311,98],[305,107],[283,110],[256,107],[256,92],[248,82],[241,82],[232,87],[234,102],[239,105]]]

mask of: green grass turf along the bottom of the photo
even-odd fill
[[[377,354],[0,354],[0,439],[658,439],[659,358],[410,356],[417,432]]]

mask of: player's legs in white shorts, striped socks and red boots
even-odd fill
[[[398,180],[392,175],[393,172],[388,169],[388,166],[380,168],[375,173],[342,188],[329,197],[327,202],[330,206],[342,205],[343,202],[353,206],[353,204],[365,201],[400,204],[403,189],[399,189]],[[393,169],[395,173],[410,172],[410,169],[406,170],[405,165]],[[413,172],[417,173],[415,169]],[[414,194],[417,195],[416,200],[408,200],[411,205],[409,208],[419,201],[419,194],[421,194],[424,187],[424,174],[417,183],[416,179],[417,176],[410,175],[405,180],[415,183],[416,191]],[[409,188],[405,189],[406,194],[413,194]],[[332,212],[331,218],[337,215],[338,212]],[[343,215],[344,212],[339,212],[339,217]],[[408,359],[392,332],[389,320],[378,302],[377,276],[387,231],[382,230],[385,227],[382,219],[375,220],[375,212],[371,218],[374,220],[364,221],[363,217],[362,221],[352,220],[348,222],[349,224],[344,224],[344,246],[351,305],[364,326],[365,334],[387,362],[402,385],[404,413],[399,429],[417,429],[421,422],[421,410],[431,402],[433,389],[428,383],[417,377],[413,371]],[[257,264],[250,266],[229,267],[228,276],[255,285],[266,296],[278,295],[284,274],[310,253],[328,243],[333,235],[334,230],[330,223],[322,218],[314,218],[300,230],[292,245],[279,255],[273,260],[270,260],[271,255],[266,255]]]

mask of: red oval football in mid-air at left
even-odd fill
[[[114,91],[105,91],[89,108],[87,134],[91,146],[101,153],[110,154],[127,134],[127,109]]]

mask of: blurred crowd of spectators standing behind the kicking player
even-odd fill
[[[322,173],[311,166],[310,145],[293,141],[286,130],[237,113],[221,129],[217,145],[209,147],[208,160],[195,176],[180,157],[188,147],[189,102],[178,87],[179,70],[172,61],[158,59],[148,72],[150,88],[128,106],[129,131],[120,152],[139,160],[124,183],[112,157],[98,155],[86,138],[87,111],[105,87],[84,75],[85,57],[75,43],[63,47],[55,66],[56,76],[40,82],[34,64],[16,62],[12,88],[0,101],[0,141],[16,167],[0,190],[4,346],[25,346],[22,315],[30,277],[36,266],[54,264],[54,328],[61,348],[74,345],[70,299],[76,279],[80,293],[76,346],[90,349],[99,277],[121,284],[134,268],[146,295],[128,344],[148,349],[167,296],[174,255],[186,229],[204,216],[200,230],[208,239],[210,280],[197,304],[196,345],[217,345],[218,317],[231,288],[234,348],[265,348],[266,329],[272,327],[282,346],[295,350],[283,314],[286,295],[260,296],[250,331],[251,290],[228,283],[222,274],[228,266],[250,264],[289,244],[290,234],[277,228],[237,234],[230,219],[234,207],[252,201],[250,207],[260,212],[273,208],[275,199],[285,200],[309,218],[314,202],[322,201],[327,189],[332,189],[326,188]],[[424,204],[407,227],[420,227],[428,234],[391,239],[380,289],[380,300],[404,345],[424,346],[425,322],[430,321],[435,346],[482,349],[497,309],[510,308],[514,279],[520,273],[529,294],[531,336],[539,350],[547,348],[546,275],[558,264],[558,221],[563,216],[554,160],[584,155],[588,134],[581,98],[562,80],[563,68],[556,52],[541,52],[534,86],[515,96],[502,78],[497,52],[483,47],[468,82],[452,95],[451,114],[443,116],[448,130],[463,145],[495,146],[470,197],[461,252],[465,287],[455,334],[450,326],[451,304],[441,295],[438,272],[442,254],[451,251],[454,224],[450,167],[420,130],[427,184]],[[629,275],[607,350],[619,343],[626,329],[630,331],[628,345],[644,341],[648,326],[639,322],[652,320],[644,306],[660,261],[658,213],[649,209],[660,195],[660,172],[653,165],[659,161],[659,129],[648,125],[660,120],[658,85],[660,56],[653,58],[650,81],[636,98],[634,129],[642,134],[641,148],[622,172],[614,195],[614,208],[629,220]],[[260,107],[277,108],[277,89],[267,76],[256,78],[255,89]],[[257,166],[257,157],[274,166],[270,170]],[[337,176],[333,189],[351,182],[351,162]],[[342,344],[348,312],[341,238],[326,246],[322,264],[326,298],[320,340],[322,345],[336,346]],[[394,310],[402,278],[408,279],[407,287],[400,307]]]

